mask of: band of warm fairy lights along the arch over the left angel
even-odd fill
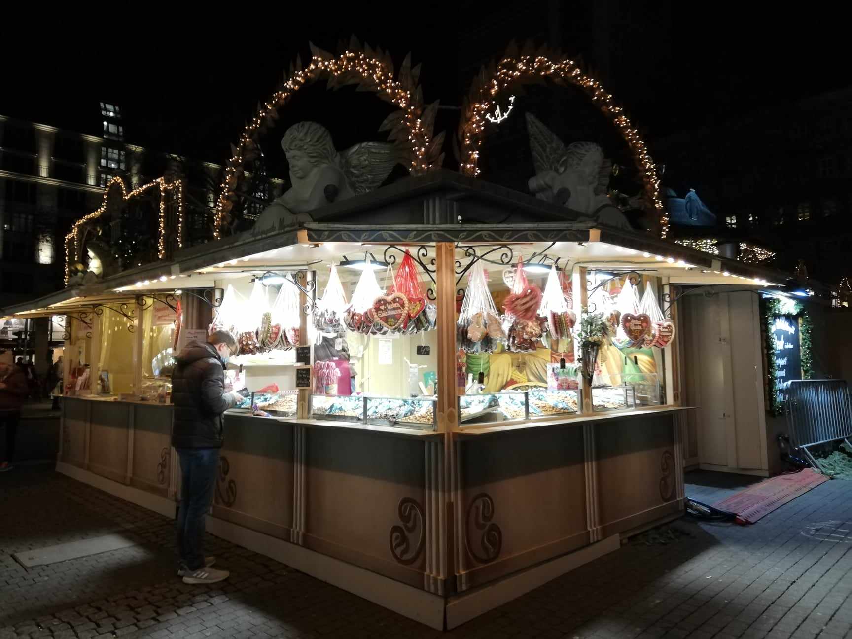
[[[408,140],[412,147],[412,160],[409,167],[411,173],[420,175],[433,168],[433,164],[425,159],[427,148],[429,148],[430,132],[421,118],[423,113],[421,101],[412,100],[412,92],[406,89],[403,83],[394,80],[393,69],[389,68],[385,61],[368,53],[349,50],[337,58],[314,54],[310,64],[304,70],[296,70],[269,101],[258,107],[255,118],[246,124],[239,138],[239,144],[233,147],[233,155],[227,161],[220,195],[216,202],[215,239],[222,237],[220,233],[222,221],[233,206],[230,199],[237,187],[239,176],[244,172],[245,152],[255,144],[253,138],[264,123],[268,121],[268,118],[276,118],[277,109],[284,106],[304,84],[323,75],[337,78],[344,73],[356,73],[360,78],[370,79],[375,84],[376,93],[384,95],[402,110],[404,115],[401,124],[405,124],[408,129]]]

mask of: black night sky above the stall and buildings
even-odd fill
[[[561,3],[561,49],[593,70],[607,69],[607,89],[648,139],[852,83],[843,62],[848,34],[817,10],[820,3],[809,3],[809,14],[784,14],[770,4],[744,10],[747,3],[708,3],[689,12],[685,3],[605,4],[613,22],[605,40],[609,60],[595,58],[596,38],[603,36],[590,28],[590,3]],[[115,101],[124,109],[127,141],[222,163],[228,143],[279,83],[281,70],[296,53],[309,58],[308,40],[334,52],[339,39],[355,33],[389,49],[397,62],[412,51],[414,62],[423,62],[425,100],[458,105],[469,83],[459,59],[469,58],[470,49],[459,43],[496,22],[475,46],[490,48],[482,56],[498,55],[513,35],[523,40],[537,27],[539,36],[547,32],[546,3],[524,3],[525,24],[500,24],[501,12],[519,6],[509,3],[371,3],[372,13],[318,6],[306,17],[285,10],[219,14],[211,5],[198,20],[165,23],[141,11],[138,21],[130,19],[136,30],[87,21],[60,32],[30,25],[10,33],[7,21],[0,114],[97,135],[97,102]],[[417,21],[409,26],[412,11]],[[314,99],[299,107],[300,115],[335,120],[336,141],[344,130],[354,130],[351,141],[366,138],[359,129],[375,130],[361,112],[369,111],[368,98],[345,108]],[[455,129],[450,112],[442,118],[439,128]]]

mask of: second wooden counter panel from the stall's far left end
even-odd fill
[[[114,401],[92,401],[89,431],[89,470],[112,481],[127,478],[127,439],[130,406]]]

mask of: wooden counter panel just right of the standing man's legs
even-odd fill
[[[220,469],[214,514],[285,537],[293,523],[293,429],[276,420],[227,415]]]

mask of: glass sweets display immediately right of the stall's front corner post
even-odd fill
[[[575,415],[580,412],[579,389],[532,388],[493,394],[462,395],[458,398],[459,423],[506,422]]]

